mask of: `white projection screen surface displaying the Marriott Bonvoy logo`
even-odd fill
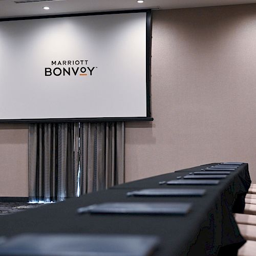
[[[0,22],[0,121],[147,116],[146,12]]]

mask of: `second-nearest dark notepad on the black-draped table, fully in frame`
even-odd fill
[[[77,209],[79,214],[185,215],[191,203],[115,202],[94,204]]]

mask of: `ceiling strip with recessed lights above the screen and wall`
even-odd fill
[[[28,3],[20,3],[24,1]],[[256,0],[145,0],[143,4],[138,4],[136,0],[0,0],[0,18],[148,8],[176,9],[251,3],[256,3]],[[50,10],[42,9],[44,6],[50,7]]]

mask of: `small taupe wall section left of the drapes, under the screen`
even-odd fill
[[[28,197],[27,124],[0,124],[0,197]]]

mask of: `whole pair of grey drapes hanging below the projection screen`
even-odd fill
[[[124,122],[29,125],[29,201],[60,201],[123,182]]]

